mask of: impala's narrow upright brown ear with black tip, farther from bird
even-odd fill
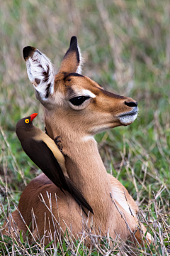
[[[67,50],[67,53],[64,55],[59,72],[81,74],[82,63],[83,60],[81,58],[81,53],[77,44],[77,37],[72,36],[69,50]]]

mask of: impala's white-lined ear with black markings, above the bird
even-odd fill
[[[55,69],[52,63],[45,54],[31,46],[23,48],[23,58],[26,61],[30,82],[42,100],[47,100],[54,91]]]

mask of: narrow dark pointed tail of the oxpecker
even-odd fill
[[[87,210],[90,210],[90,212],[94,214],[93,209],[91,208],[89,203],[87,203],[86,199],[84,198],[82,193],[79,191],[79,189],[74,185],[74,183],[72,183],[72,181],[69,178],[67,178],[67,176],[65,176],[65,179],[66,179],[67,184],[70,189],[69,192],[71,193],[74,200],[77,201],[79,206],[81,206],[82,210],[84,210],[84,208],[83,208],[83,206],[84,206]],[[86,213],[86,212],[84,211],[84,213]]]

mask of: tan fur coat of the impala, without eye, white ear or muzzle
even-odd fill
[[[102,235],[109,232],[113,239],[118,235],[123,240],[127,240],[130,237],[130,230],[132,232],[137,230],[136,213],[138,208],[125,187],[116,178],[107,174],[93,135],[123,125],[118,115],[132,110],[132,107],[125,105],[125,101],[135,101],[129,97],[120,97],[106,92],[90,78],[69,76],[70,72],[76,72],[77,67],[75,53],[69,53],[62,61],[60,73],[55,76],[54,92],[49,95],[47,100],[43,100],[37,94],[38,100],[45,106],[47,133],[52,139],[60,135],[67,174],[94,210],[94,215],[89,213],[89,223],[87,223],[91,232]],[[96,97],[86,100],[83,106],[72,106],[69,99],[81,96],[83,90],[89,90]],[[126,125],[132,122],[127,122]],[[33,235],[35,238],[38,234],[44,235],[45,213],[45,229],[47,230],[45,235],[49,235],[50,230],[52,235],[55,232],[52,214],[40,201],[41,193],[49,206],[47,192],[51,193],[52,213],[58,222],[58,216],[60,216],[62,230],[65,231],[66,224],[68,228],[72,226],[72,234],[77,237],[77,234],[82,231],[81,209],[69,193],[64,195],[44,174],[28,184],[21,195],[18,206],[27,225],[30,224],[31,209],[33,208],[38,227],[33,230]],[[120,212],[125,216],[130,229],[127,228],[127,224],[115,207],[113,199]],[[84,213],[83,219],[87,220]],[[17,223],[19,229],[23,228],[22,222],[17,221]],[[56,228],[59,228],[57,224]],[[143,225],[141,229],[145,233],[146,228]],[[137,232],[138,240],[141,240],[140,234]],[[45,244],[47,242],[48,238],[46,238]]]

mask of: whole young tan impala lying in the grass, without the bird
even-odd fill
[[[91,233],[94,230],[101,234],[109,232],[111,238],[118,235],[123,240],[128,240],[132,232],[140,241],[146,228],[140,225],[141,232],[136,232],[139,229],[137,204],[125,187],[107,174],[94,139],[99,132],[132,124],[137,117],[137,102],[103,90],[97,82],[81,75],[81,55],[75,36],[71,38],[57,75],[40,50],[27,46],[23,48],[23,57],[36,97],[45,107],[47,134],[52,139],[60,136],[67,169],[65,175],[94,210],[94,215],[86,210],[89,230]],[[72,196],[67,191],[62,193],[45,174],[26,186],[18,210],[13,212],[18,229],[26,233],[33,212],[36,220],[35,227],[30,228],[33,238],[45,235],[46,244],[48,235],[54,236],[59,229],[59,223],[62,230],[72,226],[72,234],[76,236],[82,232],[82,219],[88,219]],[[149,233],[147,238],[150,241]]]

